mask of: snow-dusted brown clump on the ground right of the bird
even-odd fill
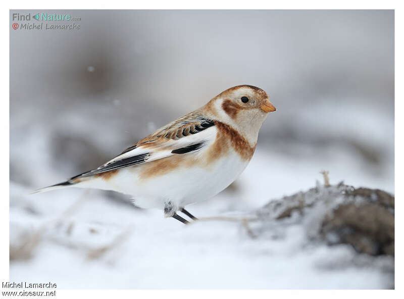
[[[354,188],[340,182],[274,200],[257,211],[264,230],[269,223],[297,214],[295,221],[307,224],[313,241],[328,245],[350,244],[358,253],[394,256],[394,196],[379,189]],[[254,233],[254,231],[252,231]],[[257,234],[257,233],[256,233]]]

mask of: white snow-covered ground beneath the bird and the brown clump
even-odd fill
[[[25,189],[21,190],[27,191]],[[377,265],[358,266],[350,245],[311,244],[301,225],[283,238],[250,238],[238,222],[200,221],[189,226],[111,202],[97,192],[48,193],[36,213],[12,208],[12,244],[35,230],[41,241],[29,260],[12,261],[12,281],[52,281],[61,288],[386,288],[392,276]],[[217,215],[219,196],[198,216]],[[62,217],[75,201],[72,215]],[[31,200],[28,198],[29,207]],[[228,202],[228,201],[227,201]],[[236,204],[237,205],[237,204]],[[208,207],[208,204],[207,204]],[[52,215],[52,216],[51,216]],[[59,219],[59,221],[54,221]],[[111,248],[103,251],[105,246]],[[363,255],[366,256],[366,255]]]

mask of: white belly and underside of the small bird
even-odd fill
[[[168,201],[184,207],[207,200],[225,189],[248,162],[231,153],[210,168],[184,167],[146,180],[139,179],[134,169],[128,168],[109,181],[108,189],[132,195],[135,205],[140,208],[163,209]]]

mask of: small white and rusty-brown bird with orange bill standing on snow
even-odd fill
[[[185,206],[205,201],[242,173],[257,146],[258,133],[276,108],[256,86],[237,85],[205,106],[161,127],[96,169],[31,193],[79,187],[129,194],[143,209],[188,224]]]

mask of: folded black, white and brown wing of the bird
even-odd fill
[[[191,113],[158,129],[104,165],[72,179],[194,152],[208,145],[215,138],[215,123]]]

